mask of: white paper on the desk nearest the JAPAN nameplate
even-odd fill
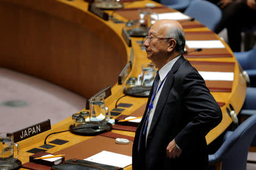
[[[100,164],[112,165],[112,166],[121,167],[121,168],[125,168],[128,165],[131,165],[131,162],[132,162],[131,156],[116,154],[114,152],[109,152],[109,151],[102,151],[84,160],[88,160],[90,162],[96,162]]]

